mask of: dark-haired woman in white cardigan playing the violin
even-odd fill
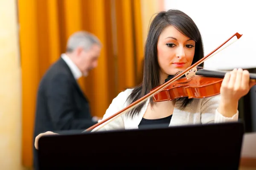
[[[193,20],[179,10],[162,11],[152,21],[145,43],[143,82],[127,89],[113,99],[103,119],[140,99],[149,91],[204,57],[201,34]],[[249,73],[234,69],[227,73],[221,85],[221,94],[205,99],[182,98],[165,102],[148,99],[129,113],[95,130],[136,129],[143,125],[166,126],[218,123],[238,120],[238,101],[248,93]],[[54,134],[52,132],[42,133]],[[37,147],[37,143],[35,143]]]

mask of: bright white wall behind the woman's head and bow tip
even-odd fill
[[[256,10],[253,4],[251,0],[165,0],[165,9],[179,9],[195,21],[203,37],[205,54],[236,32],[243,34],[234,44],[205,61],[206,68],[255,68]]]

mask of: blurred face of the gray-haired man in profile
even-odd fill
[[[79,53],[79,65],[83,76],[86,77],[90,70],[97,67],[100,51],[101,47],[96,44],[87,51],[84,49],[81,50]]]

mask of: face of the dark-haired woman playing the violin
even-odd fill
[[[157,59],[163,82],[168,75],[175,75],[191,66],[195,54],[195,41],[189,39],[174,26],[167,26],[159,36]]]

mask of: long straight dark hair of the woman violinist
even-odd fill
[[[191,18],[184,12],[175,9],[159,12],[151,22],[148,30],[148,37],[145,42],[143,82],[141,85],[135,87],[128,96],[127,100],[129,102],[135,102],[148,94],[152,88],[160,85],[160,66],[157,61],[157,42],[163,29],[170,25],[174,26],[186,37],[195,41],[195,55],[192,64],[204,57],[204,48],[200,31]],[[203,66],[203,64],[200,66]],[[192,101],[192,99],[188,99],[187,97],[180,98],[179,100],[182,100],[180,109],[185,108],[186,105]],[[151,106],[154,105],[152,98],[150,99],[150,104]],[[138,114],[144,105],[145,102],[131,110],[131,117]]]

